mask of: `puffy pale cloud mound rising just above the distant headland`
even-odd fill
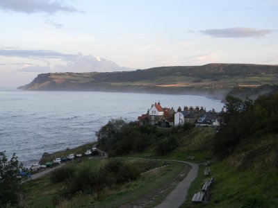
[[[128,67],[120,67],[111,60],[95,57],[93,55],[76,55],[75,57],[66,58],[67,64],[57,64],[52,71],[57,72],[91,72],[91,71],[129,71],[133,70]]]

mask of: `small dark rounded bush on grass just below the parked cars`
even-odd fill
[[[65,180],[74,176],[75,169],[73,166],[63,166],[56,169],[50,175],[52,183],[64,182]]]

